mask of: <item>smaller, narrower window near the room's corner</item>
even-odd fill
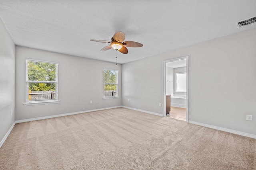
[[[103,98],[118,97],[118,70],[104,69]]]

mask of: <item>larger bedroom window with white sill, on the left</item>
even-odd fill
[[[58,102],[58,63],[26,59],[24,105]]]

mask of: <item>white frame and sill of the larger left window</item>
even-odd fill
[[[56,64],[56,73],[55,73],[55,81],[36,81],[36,80],[28,80],[28,61],[34,61],[34,62],[40,62],[40,63],[50,63],[50,64]],[[58,65],[59,63],[57,62],[52,62],[52,61],[42,61],[42,60],[36,60],[36,59],[26,59],[26,73],[25,73],[25,103],[24,106],[29,106],[29,105],[40,105],[40,104],[54,104],[54,103],[59,103],[60,101],[58,100]],[[50,100],[28,100],[28,84],[29,83],[54,83],[55,84],[55,99],[50,99]]]

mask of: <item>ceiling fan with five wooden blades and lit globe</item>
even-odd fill
[[[124,39],[125,39],[124,33],[121,31],[118,31],[113,35],[113,37],[111,38],[111,41],[97,40],[97,39],[91,39],[91,41],[110,44],[110,45],[102,48],[100,51],[107,51],[107,50],[113,48],[116,51],[118,50],[123,54],[128,53],[128,49],[126,47],[142,47],[143,46],[141,43],[137,43],[134,41],[124,41]]]

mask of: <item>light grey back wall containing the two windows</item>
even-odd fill
[[[24,106],[25,59],[59,63],[58,104]],[[103,69],[119,70],[119,96],[103,99]],[[122,65],[16,46],[16,120],[122,105]],[[92,104],[90,104],[92,100]]]

